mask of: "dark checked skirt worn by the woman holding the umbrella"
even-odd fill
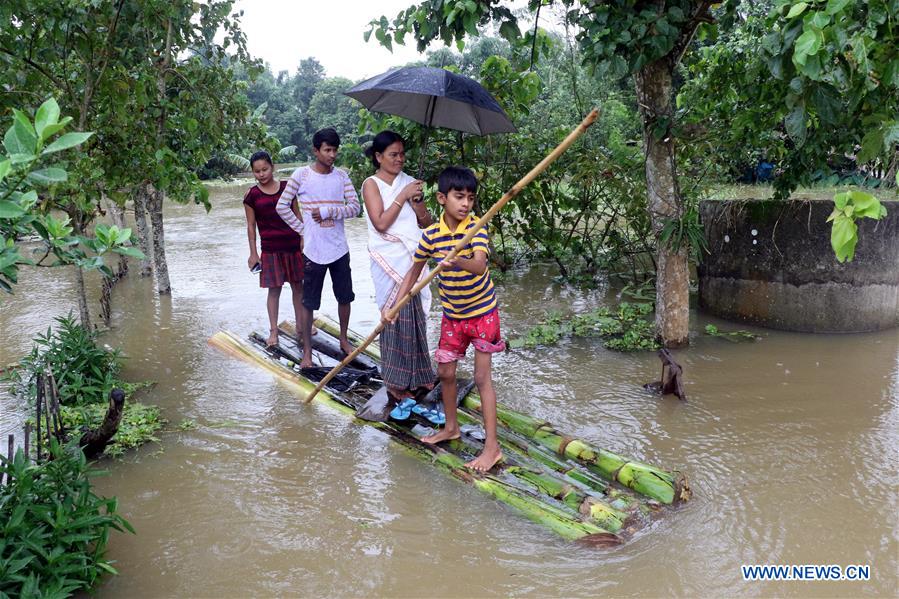
[[[427,321],[417,295],[402,307],[396,322],[381,331],[381,375],[394,394],[430,388],[437,378],[428,352]]]

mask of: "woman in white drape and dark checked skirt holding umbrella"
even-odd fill
[[[377,169],[362,184],[362,199],[375,300],[381,309],[396,300],[412,266],[421,229],[432,220],[422,201],[422,182],[403,172],[406,153],[402,137],[382,131],[365,155]],[[426,287],[403,306],[396,322],[381,331],[381,374],[396,400],[414,396],[422,388],[430,389],[437,377],[428,352],[425,314],[430,307],[431,292]]]

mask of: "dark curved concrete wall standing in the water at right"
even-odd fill
[[[699,305],[722,318],[788,331],[899,326],[899,202],[858,222],[852,262],[830,247],[829,200],[705,201],[711,254],[699,265]]]

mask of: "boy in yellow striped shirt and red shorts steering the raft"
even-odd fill
[[[409,293],[428,258],[443,259],[475,225],[476,219],[471,211],[477,188],[478,180],[467,168],[449,167],[440,173],[437,201],[443,206],[443,215],[440,222],[422,231],[412,268],[406,273],[397,298]],[[490,369],[492,355],[503,351],[505,343],[500,336],[496,294],[487,267],[488,241],[487,232],[481,229],[455,258],[446,262],[438,274],[443,322],[434,358],[443,386],[446,426],[442,431],[422,438],[423,442],[430,444],[459,438],[456,364],[465,356],[468,345],[474,345],[474,380],[481,396],[487,440],[484,451],[466,466],[478,472],[487,472],[503,457],[496,438],[496,392]],[[382,316],[385,319],[390,307],[384,306]]]

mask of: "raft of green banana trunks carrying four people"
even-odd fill
[[[282,323],[280,344],[267,348],[265,337],[252,334],[242,340],[228,332],[212,336],[209,344],[236,358],[260,366],[305,399],[323,378],[323,372],[342,356],[336,335],[337,324],[329,318],[316,320],[319,333],[313,337],[313,362],[317,371],[300,372],[302,350],[294,341],[295,330]],[[350,331],[351,342],[361,337]],[[335,379],[315,401],[350,417],[383,385],[379,380],[380,349],[369,346],[350,366],[355,369],[350,382]],[[309,378],[311,377],[311,378]],[[389,435],[412,456],[430,463],[496,500],[511,506],[530,520],[563,538],[593,545],[613,545],[626,540],[666,506],[690,498],[686,477],[629,460],[566,437],[551,424],[526,414],[497,406],[497,433],[503,460],[487,474],[465,467],[482,448],[480,398],[473,385],[459,384],[461,439],[431,446],[420,441],[429,434],[431,423],[424,415],[412,413],[406,420],[390,419],[356,422]],[[439,398],[439,393],[435,393]]]

